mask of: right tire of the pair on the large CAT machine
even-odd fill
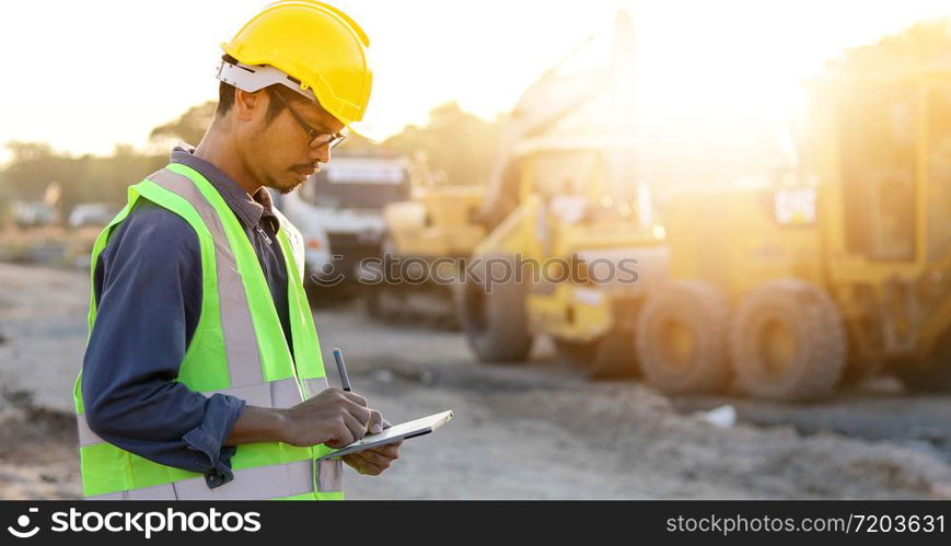
[[[757,398],[825,398],[843,376],[846,355],[835,302],[799,279],[774,280],[751,292],[730,327],[737,385]]]

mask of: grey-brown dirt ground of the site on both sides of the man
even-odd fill
[[[82,271],[0,264],[0,499],[79,497],[70,396],[88,298]],[[951,499],[948,396],[670,400],[637,381],[587,382],[545,342],[531,363],[486,367],[456,333],[378,324],[356,305],[315,318],[325,362],[340,347],[353,388],[388,420],[455,413],[382,476],[348,469],[350,499]],[[740,421],[707,422],[724,404]]]

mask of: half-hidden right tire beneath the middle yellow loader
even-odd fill
[[[617,379],[637,375],[634,333],[617,330],[588,342],[554,338],[558,360],[580,370],[590,379]]]

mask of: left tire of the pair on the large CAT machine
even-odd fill
[[[648,297],[637,321],[637,355],[648,384],[666,394],[718,393],[730,382],[727,299],[683,280]]]

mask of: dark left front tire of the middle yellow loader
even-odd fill
[[[467,277],[455,286],[453,297],[459,322],[478,360],[509,364],[525,361],[534,337],[529,330],[523,284],[492,284],[488,292],[484,283]]]

